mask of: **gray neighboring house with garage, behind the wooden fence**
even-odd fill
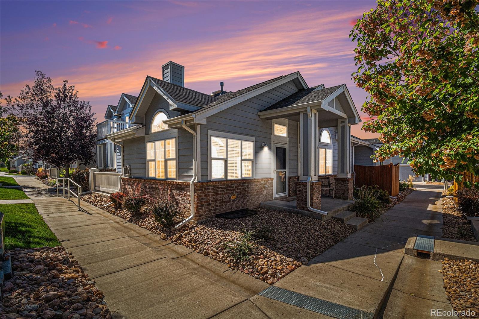
[[[422,176],[416,177],[416,173],[412,171],[411,166],[408,164],[408,158],[394,156],[390,159],[385,159],[382,162],[375,163],[373,159],[371,159],[371,156],[383,144],[378,138],[361,139],[359,137],[352,136],[351,142],[353,143],[355,165],[376,166],[387,165],[391,163],[399,164],[399,180],[407,181],[409,175],[414,176],[413,181],[415,182],[422,182],[424,180]]]

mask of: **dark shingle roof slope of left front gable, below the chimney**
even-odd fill
[[[205,107],[206,105],[213,103],[218,99],[217,97],[211,96],[209,94],[194,91],[180,85],[159,80],[153,77],[150,78],[177,102]]]

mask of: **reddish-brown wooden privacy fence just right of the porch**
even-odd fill
[[[377,185],[391,196],[399,194],[399,164],[363,166],[354,165],[356,186]]]

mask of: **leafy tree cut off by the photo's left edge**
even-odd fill
[[[19,150],[20,140],[19,120],[9,108],[1,103],[3,94],[0,92],[0,161],[15,156]]]

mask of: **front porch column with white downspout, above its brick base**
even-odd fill
[[[300,181],[306,181],[312,175],[311,181],[318,180],[317,156],[318,156],[318,112],[311,110],[311,118],[308,112],[302,112],[299,120],[300,139]],[[310,144],[311,143],[311,144]],[[311,163],[312,168],[311,168]]]

